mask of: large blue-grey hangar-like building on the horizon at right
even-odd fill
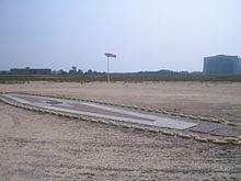
[[[241,58],[238,56],[216,55],[204,58],[205,75],[241,73]]]

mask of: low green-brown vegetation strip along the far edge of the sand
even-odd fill
[[[112,81],[145,82],[145,81],[230,81],[240,82],[241,76],[207,76],[187,72],[130,72],[111,73]],[[90,71],[81,75],[0,75],[0,83],[24,83],[27,81],[58,81],[58,82],[92,82],[106,81],[106,73]]]

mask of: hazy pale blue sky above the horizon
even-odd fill
[[[240,0],[0,0],[0,70],[203,70],[241,56]]]

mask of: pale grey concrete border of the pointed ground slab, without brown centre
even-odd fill
[[[93,116],[93,117],[101,117],[101,118],[107,118],[107,120],[114,120],[114,121],[123,121],[123,122],[130,122],[130,123],[137,123],[137,124],[144,124],[144,125],[149,125],[149,126],[158,126],[158,127],[167,127],[167,128],[174,128],[174,129],[186,129],[193,126],[196,126],[196,123],[190,123],[185,121],[176,121],[173,118],[167,118],[167,117],[160,117],[156,115],[151,115],[149,113],[139,113],[130,110],[124,110],[123,108],[111,108],[107,105],[102,105],[97,103],[88,103],[88,102],[80,102],[76,100],[71,101],[64,101],[62,99],[55,99],[54,101],[62,101],[62,104],[66,105],[66,108],[58,108],[55,105],[49,105],[46,102],[49,101],[47,97],[41,97],[43,100],[38,100],[38,103],[34,103],[33,101],[30,102],[27,101],[26,97],[31,97],[31,99],[35,98],[36,100],[39,99],[39,97],[33,97],[33,95],[21,95],[23,98],[20,98],[19,94],[3,94],[3,97],[7,97],[8,99],[11,99],[13,101],[16,101],[19,103],[24,103],[27,105],[33,105],[33,106],[38,106],[42,109],[48,109],[48,110],[54,110],[54,111],[60,111],[60,112],[67,112],[67,113],[73,113],[73,114],[81,114],[81,115],[88,115],[88,116]],[[25,98],[24,98],[25,97]],[[44,101],[44,99],[46,101]],[[71,104],[77,104],[79,105],[80,110],[73,110],[71,108]],[[126,115],[134,115],[137,117],[140,117],[142,120],[138,118],[133,118],[133,117],[124,117],[124,116],[115,116],[115,115],[110,115],[110,114],[100,114],[100,113],[94,113],[94,112],[88,112],[88,111],[81,111],[81,105],[89,105],[90,108],[94,109],[102,109],[102,110],[107,110],[112,112],[117,112],[120,114],[126,114]]]

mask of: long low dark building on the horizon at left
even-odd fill
[[[12,68],[10,70],[12,75],[50,75],[51,69],[49,68],[41,68],[41,69],[32,69],[30,67],[26,68]]]

